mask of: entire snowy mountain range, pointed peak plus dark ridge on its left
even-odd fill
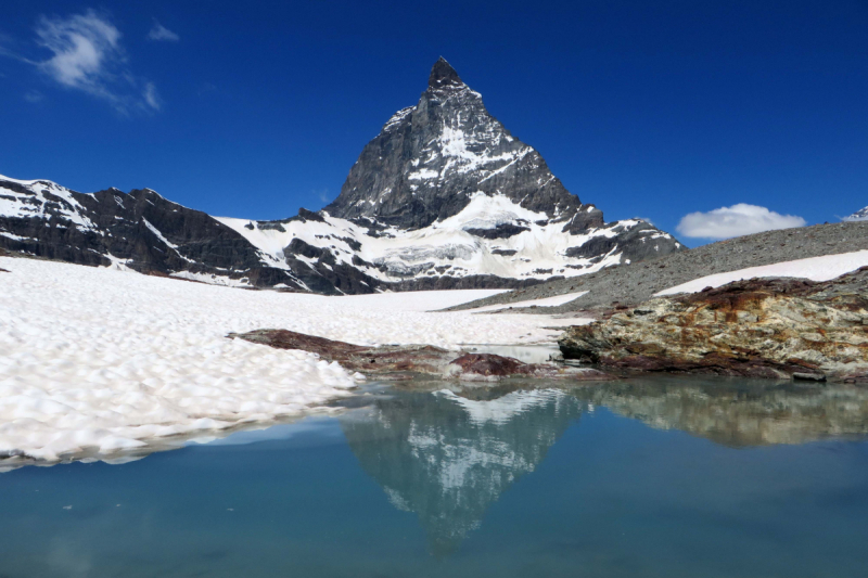
[[[215,218],[149,189],[81,194],[0,177],[0,247],[324,294],[518,287],[682,248],[639,219],[605,223],[443,59],[319,213]]]

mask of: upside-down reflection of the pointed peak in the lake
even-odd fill
[[[345,416],[342,426],[392,504],[414,512],[432,551],[448,554],[580,413],[582,402],[560,390],[490,400],[442,390],[378,400],[372,411]]]

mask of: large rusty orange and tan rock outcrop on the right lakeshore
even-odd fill
[[[868,268],[648,300],[564,332],[566,359],[643,371],[868,381]]]

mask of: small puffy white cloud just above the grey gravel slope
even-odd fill
[[[805,219],[795,215],[780,215],[766,207],[739,203],[685,215],[676,229],[684,236],[719,240],[805,224]]]

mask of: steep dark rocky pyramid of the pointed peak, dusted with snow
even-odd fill
[[[419,103],[398,111],[368,143],[324,210],[418,229],[458,214],[476,191],[506,194],[551,218],[583,208],[539,153],[489,115],[482,95],[441,59]]]

